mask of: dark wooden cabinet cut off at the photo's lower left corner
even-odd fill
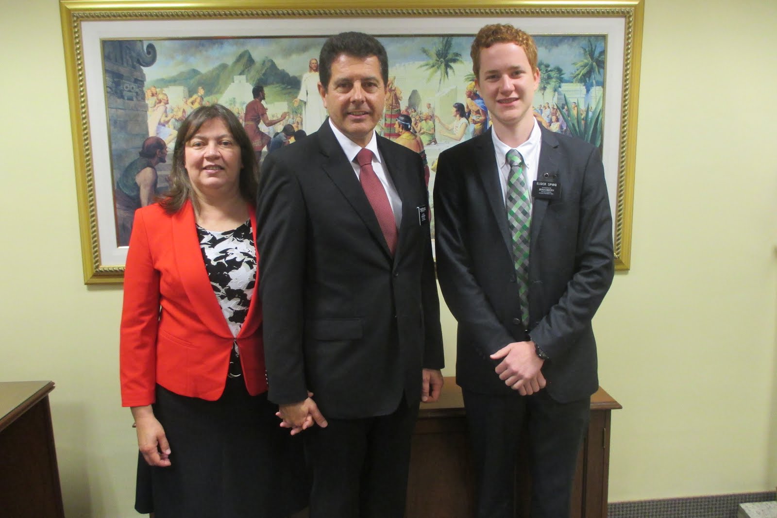
[[[0,382],[0,515],[64,518],[51,381]]]

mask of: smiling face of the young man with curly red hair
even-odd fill
[[[495,43],[480,50],[476,86],[497,125],[514,128],[532,120],[531,103],[539,86],[539,71],[531,70],[523,47]]]

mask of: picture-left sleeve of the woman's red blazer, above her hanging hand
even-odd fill
[[[159,271],[154,268],[144,214],[135,211],[124,269],[119,353],[123,406],[155,402]]]

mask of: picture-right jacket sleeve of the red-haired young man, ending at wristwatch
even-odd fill
[[[552,359],[589,329],[615,276],[612,215],[599,151],[591,148],[583,172],[577,226],[575,273],[566,291],[533,329],[531,339]]]

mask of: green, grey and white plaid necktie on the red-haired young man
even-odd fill
[[[524,177],[524,158],[516,149],[507,151],[510,176],[507,177],[507,227],[513,236],[513,260],[521,301],[521,320],[528,325],[529,245],[531,235],[531,195]]]

